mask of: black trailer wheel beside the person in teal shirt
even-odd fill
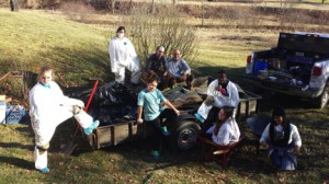
[[[181,122],[172,136],[173,148],[182,151],[193,148],[200,130],[201,127],[192,119]]]

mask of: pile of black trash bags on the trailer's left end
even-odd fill
[[[82,100],[86,104],[92,89],[76,92],[72,97]],[[110,82],[97,89],[88,114],[99,119],[102,126],[136,119],[137,117],[136,90],[117,82]]]

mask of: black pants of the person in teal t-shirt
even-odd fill
[[[167,123],[172,123],[175,117],[177,114],[172,110],[166,108],[163,112],[161,112],[161,114],[157,118],[152,120],[146,120],[146,125],[148,126],[148,129],[151,130],[148,140],[152,150],[155,151],[160,150],[160,143],[162,137],[161,127],[166,126]],[[164,122],[163,118],[166,118]]]

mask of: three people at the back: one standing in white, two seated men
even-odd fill
[[[132,42],[125,37],[126,30],[120,26],[116,36],[109,45],[111,59],[111,71],[115,76],[115,81],[125,83],[125,69],[132,72],[132,84],[138,84],[141,78],[141,66]],[[158,46],[156,53],[146,60],[146,81],[156,77],[159,79],[160,89],[173,88],[177,82],[185,82],[188,89],[191,88],[193,76],[188,62],[181,57],[178,48],[173,49],[172,58],[167,59],[164,47]]]

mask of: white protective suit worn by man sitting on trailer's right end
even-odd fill
[[[208,96],[213,96],[214,97],[214,103],[212,105],[206,105],[205,103],[202,103],[202,105],[198,107],[197,110],[197,114],[200,114],[204,119],[207,118],[209,111],[213,108],[213,106],[215,107],[223,107],[223,106],[232,106],[232,107],[237,107],[240,99],[239,99],[239,92],[238,89],[236,87],[235,83],[228,81],[227,84],[227,92],[228,92],[228,96],[223,95],[218,90],[216,90],[218,88],[218,79],[214,80],[207,89],[207,95]],[[234,117],[236,114],[236,110],[234,113]]]

